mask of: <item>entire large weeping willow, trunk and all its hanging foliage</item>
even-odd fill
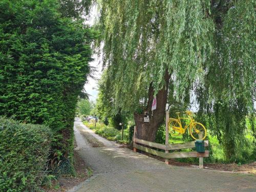
[[[113,112],[133,113],[138,137],[154,141],[167,98],[183,102],[194,90],[210,129],[235,148],[253,113],[255,1],[98,2]]]

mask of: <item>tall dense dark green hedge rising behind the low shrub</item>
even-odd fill
[[[93,32],[55,0],[0,1],[0,115],[54,132],[52,159],[70,161],[77,96]]]

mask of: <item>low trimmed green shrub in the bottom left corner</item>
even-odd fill
[[[46,170],[51,131],[0,116],[0,191],[37,191]]]

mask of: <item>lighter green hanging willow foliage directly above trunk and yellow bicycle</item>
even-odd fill
[[[215,29],[209,1],[113,0],[100,5],[104,64],[116,109],[133,110],[151,82],[157,93],[166,69],[175,78],[177,97],[205,75]]]

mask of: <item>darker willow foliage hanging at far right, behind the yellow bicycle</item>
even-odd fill
[[[255,1],[220,1],[212,8],[215,52],[197,89],[200,114],[207,113],[212,134],[236,160],[246,147],[246,117],[254,116]],[[255,117],[253,117],[255,120]],[[254,122],[251,122],[252,126]],[[255,142],[255,130],[252,129]],[[254,149],[255,150],[255,149]]]

